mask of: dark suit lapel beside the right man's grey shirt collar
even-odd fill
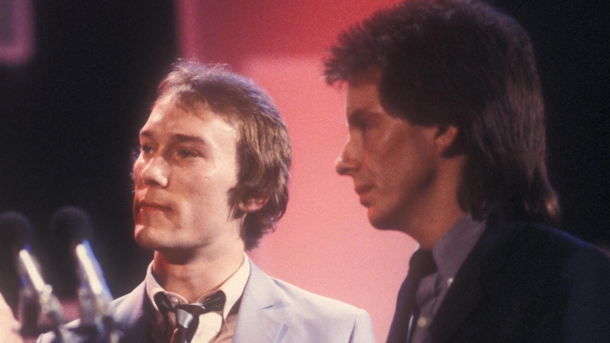
[[[485,232],[462,264],[432,320],[432,341],[447,342],[487,297],[494,275],[506,263],[511,248],[506,241],[509,231],[501,217],[487,219]]]

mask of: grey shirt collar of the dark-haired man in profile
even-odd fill
[[[451,226],[432,248],[432,256],[443,279],[453,278],[485,229],[485,221],[470,214]]]

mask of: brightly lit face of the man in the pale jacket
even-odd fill
[[[135,240],[152,250],[193,250],[240,239],[229,190],[237,184],[234,125],[203,105],[157,101],[134,164]]]

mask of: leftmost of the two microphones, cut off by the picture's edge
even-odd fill
[[[0,215],[0,232],[16,256],[15,263],[21,280],[21,333],[35,331],[36,316],[40,309],[51,320],[58,341],[66,343],[68,331],[63,327],[65,319],[59,300],[53,294],[51,285],[43,279],[37,259],[30,254],[28,243],[31,231],[30,222],[23,214],[7,212]],[[33,302],[38,305],[34,311],[31,306]]]

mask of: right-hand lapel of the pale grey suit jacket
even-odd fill
[[[243,290],[233,342],[279,343],[288,330],[282,319],[284,298],[273,280],[248,261],[250,276]]]

